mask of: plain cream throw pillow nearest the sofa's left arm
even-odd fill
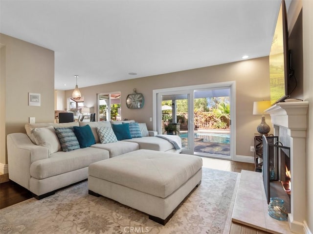
[[[61,144],[55,130],[52,126],[46,128],[34,128],[31,130],[36,145],[49,149],[49,153],[61,151]]]

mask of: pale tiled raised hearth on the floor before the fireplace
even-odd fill
[[[242,170],[232,221],[273,234],[291,234],[288,221],[268,215],[262,173]]]

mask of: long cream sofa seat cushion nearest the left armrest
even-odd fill
[[[30,175],[36,179],[45,179],[69,171],[86,168],[90,163],[109,158],[109,152],[103,149],[83,148],[69,152],[55,152],[49,158],[38,160],[30,165]]]

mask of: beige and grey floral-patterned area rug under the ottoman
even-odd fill
[[[202,183],[162,226],[148,215],[88,194],[82,182],[0,210],[1,234],[227,234],[240,173],[203,168]]]

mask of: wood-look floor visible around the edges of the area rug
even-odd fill
[[[203,167],[217,170],[241,172],[241,170],[254,171],[254,164],[233,162],[229,160],[202,157]],[[8,181],[0,184],[0,209],[14,205],[32,197],[32,193],[22,186]],[[246,227],[237,223],[231,224],[230,234],[267,234],[266,232]]]

